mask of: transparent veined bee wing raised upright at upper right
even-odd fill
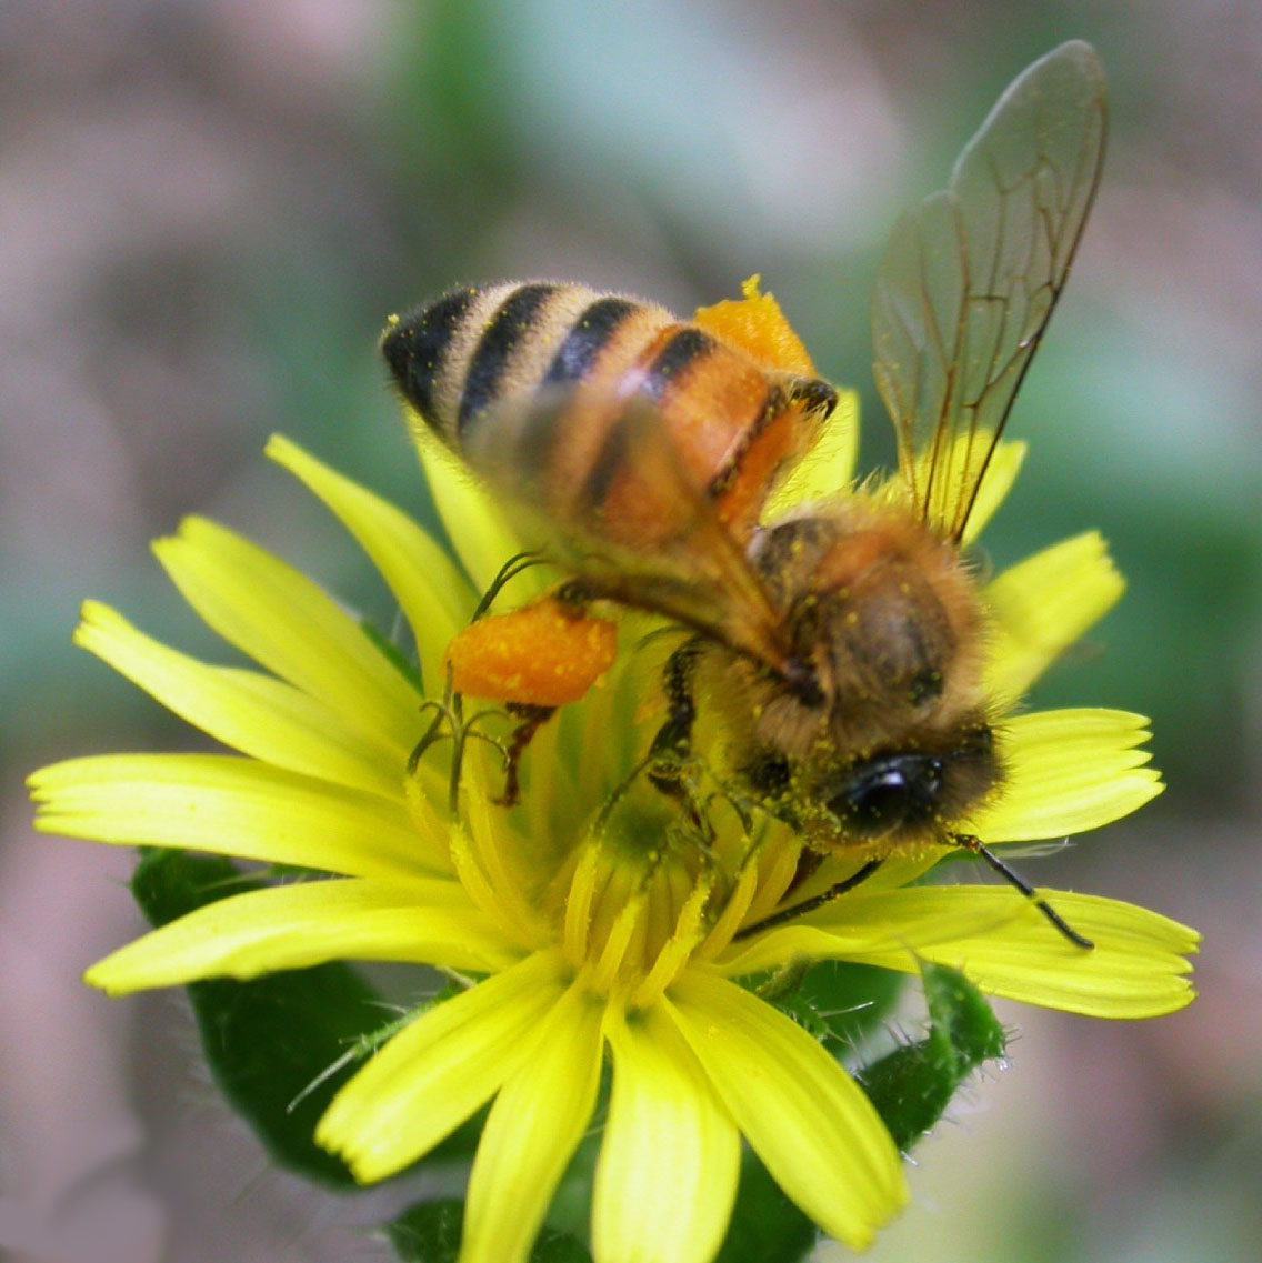
[[[1104,72],[1061,44],[999,97],[950,184],[894,229],[874,374],[925,523],[959,541],[1056,306],[1104,157]]]

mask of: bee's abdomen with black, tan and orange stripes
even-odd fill
[[[757,364],[663,307],[533,280],[393,318],[382,351],[421,421],[563,527],[652,551],[699,495],[739,538],[835,393]]]

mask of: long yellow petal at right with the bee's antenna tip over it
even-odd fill
[[[1160,1017],[1193,1000],[1186,957],[1200,942],[1194,930],[1117,899],[1038,893],[1095,947],[1069,942],[1017,890],[913,887],[872,897],[865,912],[883,918],[888,932],[874,935],[868,950],[856,949],[854,925],[841,923],[839,909],[838,931],[846,941],[841,955],[908,973],[918,956],[961,970],[992,995],[1088,1017]],[[854,902],[860,903],[858,897]],[[858,916],[851,907],[850,919]],[[923,932],[927,926],[936,941]],[[893,942],[899,928],[916,942],[913,952]]]

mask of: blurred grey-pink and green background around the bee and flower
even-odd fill
[[[917,1151],[915,1205],[869,1257],[1257,1257],[1256,0],[8,0],[4,1258],[389,1257],[356,1228],[371,1202],[298,1188],[225,1116],[178,999],[76,981],[134,932],[128,858],[32,835],[23,777],[196,740],[69,647],[78,601],[222,659],[147,552],[200,512],[388,624],[366,565],[261,446],[283,429],[427,514],[375,340],[456,282],[557,277],[687,313],[758,272],[824,375],[860,390],[864,455],[887,461],[868,336],[884,236],[1004,83],[1073,37],[1109,73],[1109,158],[987,544],[1002,565],[1098,527],[1129,578],[1037,700],[1153,716],[1170,788],[1032,875],[1198,926],[1203,995],[1129,1026],[1003,1007],[1009,1066]]]

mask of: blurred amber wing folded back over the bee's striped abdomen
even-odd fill
[[[462,443],[524,539],[594,596],[792,672],[783,620],[651,400],[543,392],[480,419]]]

